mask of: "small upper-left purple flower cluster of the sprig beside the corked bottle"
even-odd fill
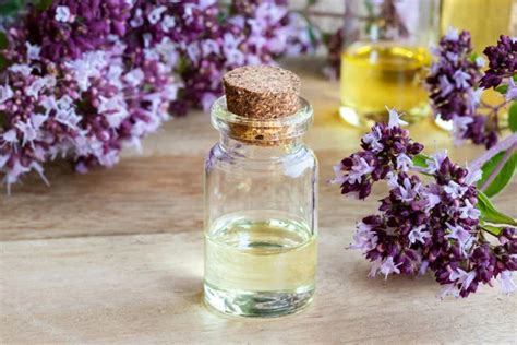
[[[412,158],[423,146],[411,141],[409,132],[400,128],[402,123],[398,114],[389,110],[389,122],[375,123],[372,132],[362,138],[363,150],[334,167],[336,178],[333,182],[340,185],[342,194],[353,193],[359,199],[365,199],[372,185],[390,178],[394,169],[408,171]]]

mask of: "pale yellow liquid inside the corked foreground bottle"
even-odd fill
[[[231,214],[205,234],[205,301],[223,312],[294,312],[312,300],[315,272],[315,235],[302,222]]]

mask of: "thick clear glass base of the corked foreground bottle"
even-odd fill
[[[309,306],[314,286],[287,292],[242,292],[218,289],[204,284],[205,304],[225,314],[277,318],[298,312]]]

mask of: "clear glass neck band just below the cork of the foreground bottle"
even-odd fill
[[[275,159],[291,155],[303,147],[302,136],[282,142],[265,142],[263,144],[247,143],[220,133],[219,146],[229,155],[252,159]]]

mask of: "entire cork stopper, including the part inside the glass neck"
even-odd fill
[[[227,109],[250,120],[275,120],[300,108],[300,79],[294,73],[270,66],[247,66],[223,76]],[[265,123],[265,122],[264,122]],[[229,135],[254,145],[288,144],[280,140],[290,129],[233,123]]]

